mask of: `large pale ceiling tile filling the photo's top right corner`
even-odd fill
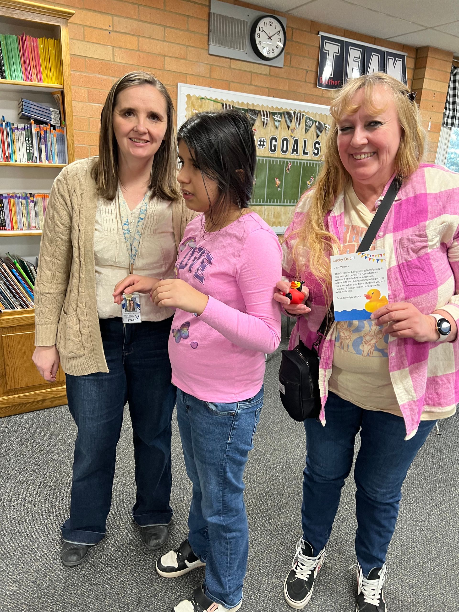
[[[357,4],[367,9],[400,17],[407,21],[414,21],[426,28],[436,27],[441,23],[448,23],[457,19],[457,0],[435,0],[435,4],[428,0],[347,0],[350,4]],[[420,29],[420,28],[419,28]],[[408,31],[408,30],[407,30]]]

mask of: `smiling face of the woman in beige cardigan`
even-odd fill
[[[113,132],[120,159],[152,160],[166,129],[166,100],[158,89],[145,84],[119,92],[113,110]]]

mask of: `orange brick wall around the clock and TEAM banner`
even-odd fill
[[[325,31],[406,51],[408,83],[412,83],[413,47],[291,15],[285,15],[285,67],[276,68],[207,53],[209,0],[68,0],[56,4],[76,11],[69,22],[76,159],[97,154],[106,93],[116,78],[130,70],[154,73],[174,101],[177,83],[189,83],[326,104],[332,92],[316,88],[317,34]],[[237,0],[234,4],[259,9]]]

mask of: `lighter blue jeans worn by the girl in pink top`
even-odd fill
[[[209,403],[177,389],[177,420],[193,483],[188,540],[206,562],[204,592],[226,608],[242,599],[248,526],[244,475],[263,406],[263,387],[236,403]]]

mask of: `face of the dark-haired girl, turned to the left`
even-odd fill
[[[200,168],[183,140],[179,142],[180,172],[177,181],[182,189],[187,208],[195,212],[207,212],[217,201],[219,191],[217,181],[203,177]],[[205,182],[204,182],[205,181]]]

